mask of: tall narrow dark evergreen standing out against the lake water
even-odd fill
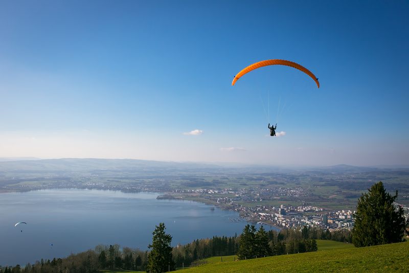
[[[152,251],[148,255],[147,272],[160,273],[166,272],[168,269],[174,270],[172,246],[170,246],[172,236],[166,234],[165,230],[165,224],[160,223],[152,233],[152,244],[148,246],[152,248]]]

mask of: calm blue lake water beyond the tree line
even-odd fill
[[[173,246],[239,235],[247,224],[230,220],[239,217],[236,212],[188,200],[157,200],[157,195],[78,189],[0,194],[0,265],[66,257],[98,244],[146,250],[160,222],[173,236]],[[27,225],[14,227],[22,221]]]

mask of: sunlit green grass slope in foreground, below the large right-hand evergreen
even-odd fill
[[[343,245],[344,246],[344,245]],[[409,242],[209,263],[185,272],[409,272]]]

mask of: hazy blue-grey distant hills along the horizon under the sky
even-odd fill
[[[277,166],[229,166],[228,164],[192,163],[192,162],[162,162],[132,159],[105,158],[59,158],[40,160],[35,157],[0,157],[1,172],[18,173],[81,173],[93,171],[125,171],[132,173],[166,173],[174,171],[199,171],[208,173],[357,173],[381,170],[396,171],[396,169],[380,169],[374,167],[357,167],[350,165],[336,165],[315,168],[282,168]],[[409,172],[409,169],[401,169]]]

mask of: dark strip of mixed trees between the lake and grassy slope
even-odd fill
[[[98,245],[95,249],[72,254],[66,258],[37,261],[25,267],[0,267],[0,273],[45,273],[45,272],[72,272],[90,273],[102,269],[109,270],[138,270],[151,272],[168,271],[179,267],[188,267],[192,263],[214,256],[239,255],[239,259],[251,259],[287,253],[313,251],[314,245],[298,236],[300,231],[283,230],[280,233],[264,230],[261,226],[255,232],[254,226],[246,225],[240,236],[214,236],[212,238],[197,239],[191,243],[177,244],[171,247],[171,236],[165,233],[165,225],[161,223],[153,232],[151,251],[141,251],[118,244]],[[168,237],[165,237],[168,236]],[[169,237],[170,236],[170,237]],[[166,239],[163,241],[163,239]],[[308,238],[305,238],[308,239]],[[158,244],[162,242],[163,245]],[[253,246],[254,244],[254,246]],[[245,247],[247,245],[247,247]],[[165,247],[167,246],[167,248]],[[260,247],[261,248],[260,248]],[[315,243],[316,246],[316,243]],[[255,249],[257,252],[240,255],[240,249]],[[162,256],[161,256],[162,255]],[[163,260],[163,268],[156,268],[157,261]],[[151,262],[149,262],[151,261]]]

